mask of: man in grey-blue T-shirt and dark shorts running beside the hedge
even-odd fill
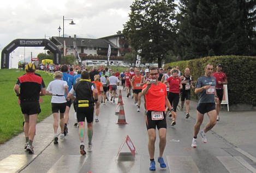
[[[204,114],[207,113],[210,122],[207,123],[204,130],[200,132],[203,143],[207,143],[205,134],[216,124],[217,112],[215,102],[219,102],[219,99],[215,90],[216,79],[211,76],[212,71],[213,66],[207,64],[205,66],[205,76],[198,78],[195,87],[195,94],[199,94],[199,102],[197,107],[197,122],[194,125],[194,137],[191,145],[193,148],[197,147],[197,135],[204,120]]]

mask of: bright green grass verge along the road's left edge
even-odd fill
[[[24,73],[17,69],[0,70],[0,144],[22,132],[23,115],[13,88],[17,77]],[[43,77],[46,87],[53,80],[53,77],[45,72],[37,71],[37,73]],[[40,103],[41,113],[38,116],[38,122],[51,115],[51,96],[40,98],[43,98],[43,102]]]

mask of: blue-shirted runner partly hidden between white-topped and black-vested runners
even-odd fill
[[[74,76],[68,74],[68,66],[63,65],[61,67],[61,71],[62,71],[62,81],[67,82],[68,92],[69,92],[72,89],[72,85],[75,84],[75,78],[74,78]],[[65,97],[67,98],[66,94],[65,94]],[[71,104],[72,104],[72,100],[67,101],[67,106],[66,106],[66,110],[64,113],[64,122],[65,122],[64,135],[65,136],[68,134],[69,109],[70,109]]]

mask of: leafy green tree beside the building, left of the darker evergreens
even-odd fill
[[[135,0],[130,6],[129,20],[123,33],[135,52],[141,50],[146,61],[157,61],[158,67],[175,40],[174,0]]]

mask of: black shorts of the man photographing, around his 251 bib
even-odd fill
[[[154,128],[160,129],[160,128],[166,128],[166,116],[165,113],[163,112],[164,119],[163,120],[152,120],[152,111],[154,110],[148,110],[146,114],[146,126],[147,129]]]

